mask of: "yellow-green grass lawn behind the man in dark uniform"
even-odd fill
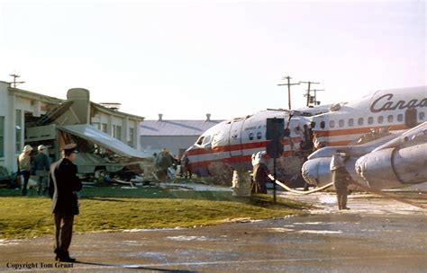
[[[23,198],[20,190],[0,189],[0,238],[28,238],[53,233],[50,198]],[[234,198],[232,192],[158,188],[84,188],[80,192],[77,233],[105,230],[218,225],[239,218],[264,219],[301,213],[307,205],[256,195]]]

